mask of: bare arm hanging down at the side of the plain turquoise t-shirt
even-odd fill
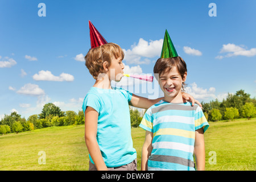
[[[85,110],[85,143],[98,171],[108,171],[97,143],[98,112],[92,107]]]

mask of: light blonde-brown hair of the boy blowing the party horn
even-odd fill
[[[111,64],[112,56],[115,59],[125,56],[120,46],[115,43],[108,43],[102,46],[90,49],[85,56],[85,65],[89,69],[90,75],[97,80],[98,74],[103,71],[103,63],[108,62],[108,66]]]

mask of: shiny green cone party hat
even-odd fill
[[[166,30],[166,34],[164,34],[164,42],[162,47],[161,58],[177,57],[177,56],[179,55],[177,55],[174,44],[172,43],[170,35]]]

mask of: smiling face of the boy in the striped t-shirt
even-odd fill
[[[171,71],[164,72],[159,75],[159,85],[164,93],[164,99],[169,101],[173,100],[177,94],[181,94],[182,83],[187,78],[187,72],[185,72],[182,78],[177,67],[173,67]]]

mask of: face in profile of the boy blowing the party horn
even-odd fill
[[[123,77],[123,68],[125,68],[125,66],[122,63],[122,57],[116,59],[115,56],[112,56],[109,71],[107,73],[110,80],[119,82]]]

